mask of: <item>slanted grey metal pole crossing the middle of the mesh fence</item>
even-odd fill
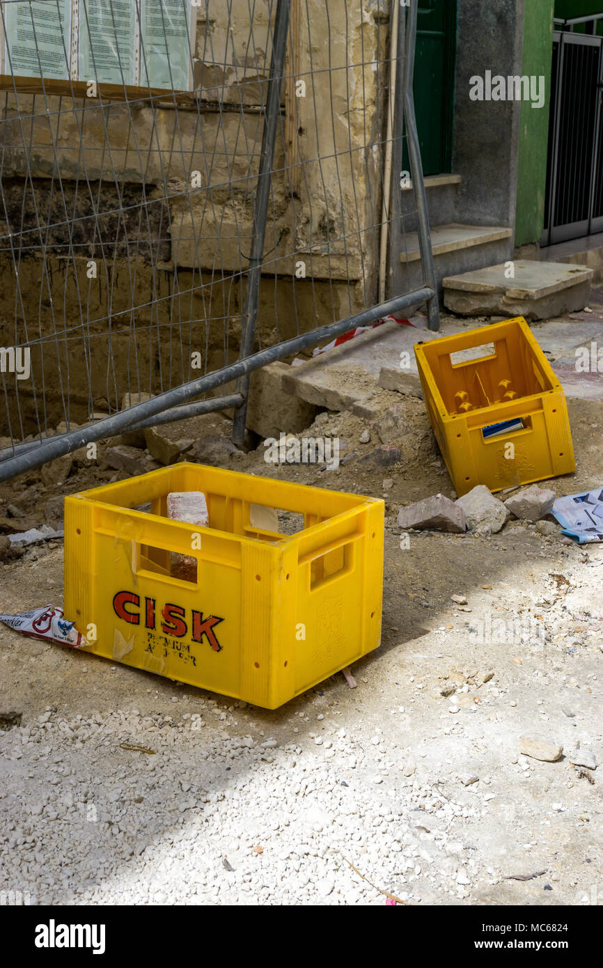
[[[261,155],[259,172],[257,175],[256,209],[254,212],[254,229],[252,249],[247,273],[247,287],[245,290],[245,305],[241,319],[241,349],[239,360],[246,359],[254,351],[256,339],[257,305],[259,302],[259,282],[261,278],[261,263],[266,234],[266,219],[268,216],[268,202],[272,187],[272,166],[274,164],[274,145],[276,141],[277,125],[281,113],[281,87],[285,68],[286,35],[288,32],[291,0],[278,0],[277,14],[274,23],[272,42],[272,59],[270,63],[270,77],[268,80],[268,95],[266,98],[266,113],[264,130],[261,138]],[[276,271],[276,270],[275,270]],[[236,392],[242,394],[243,403],[234,411],[232,424],[232,442],[241,446],[245,437],[245,422],[249,400],[249,375],[241,377],[236,384]]]

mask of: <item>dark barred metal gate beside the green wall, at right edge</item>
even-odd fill
[[[603,231],[603,37],[553,35],[541,245]]]

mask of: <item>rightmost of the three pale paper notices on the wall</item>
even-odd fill
[[[141,0],[140,22],[140,84],[190,91],[196,22],[191,0]]]

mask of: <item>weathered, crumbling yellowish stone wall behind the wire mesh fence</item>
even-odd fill
[[[383,6],[293,0],[258,316],[264,346],[376,297]],[[257,0],[254,9],[253,36],[247,0],[211,0],[199,15],[200,107],[169,96],[155,106],[3,96],[0,346],[34,341],[36,391],[18,384],[28,431],[43,376],[50,423],[63,417],[61,382],[81,421],[130,389],[198,376],[194,351],[202,370],[236,358],[270,62],[269,7]]]

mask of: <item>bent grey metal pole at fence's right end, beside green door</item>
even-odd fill
[[[439,329],[439,305],[437,303],[436,267],[432,252],[432,235],[429,227],[427,211],[427,195],[423,181],[423,165],[419,148],[419,136],[416,130],[414,114],[414,95],[412,92],[412,78],[414,75],[414,46],[416,43],[417,3],[412,3],[407,14],[406,50],[405,50],[405,79],[404,79],[404,116],[407,125],[408,160],[412,177],[412,191],[417,211],[417,228],[419,235],[419,249],[421,250],[421,264],[425,285],[436,293],[427,302],[427,316],[429,328]],[[401,20],[403,17],[401,17]],[[404,29],[404,28],[402,28]]]

